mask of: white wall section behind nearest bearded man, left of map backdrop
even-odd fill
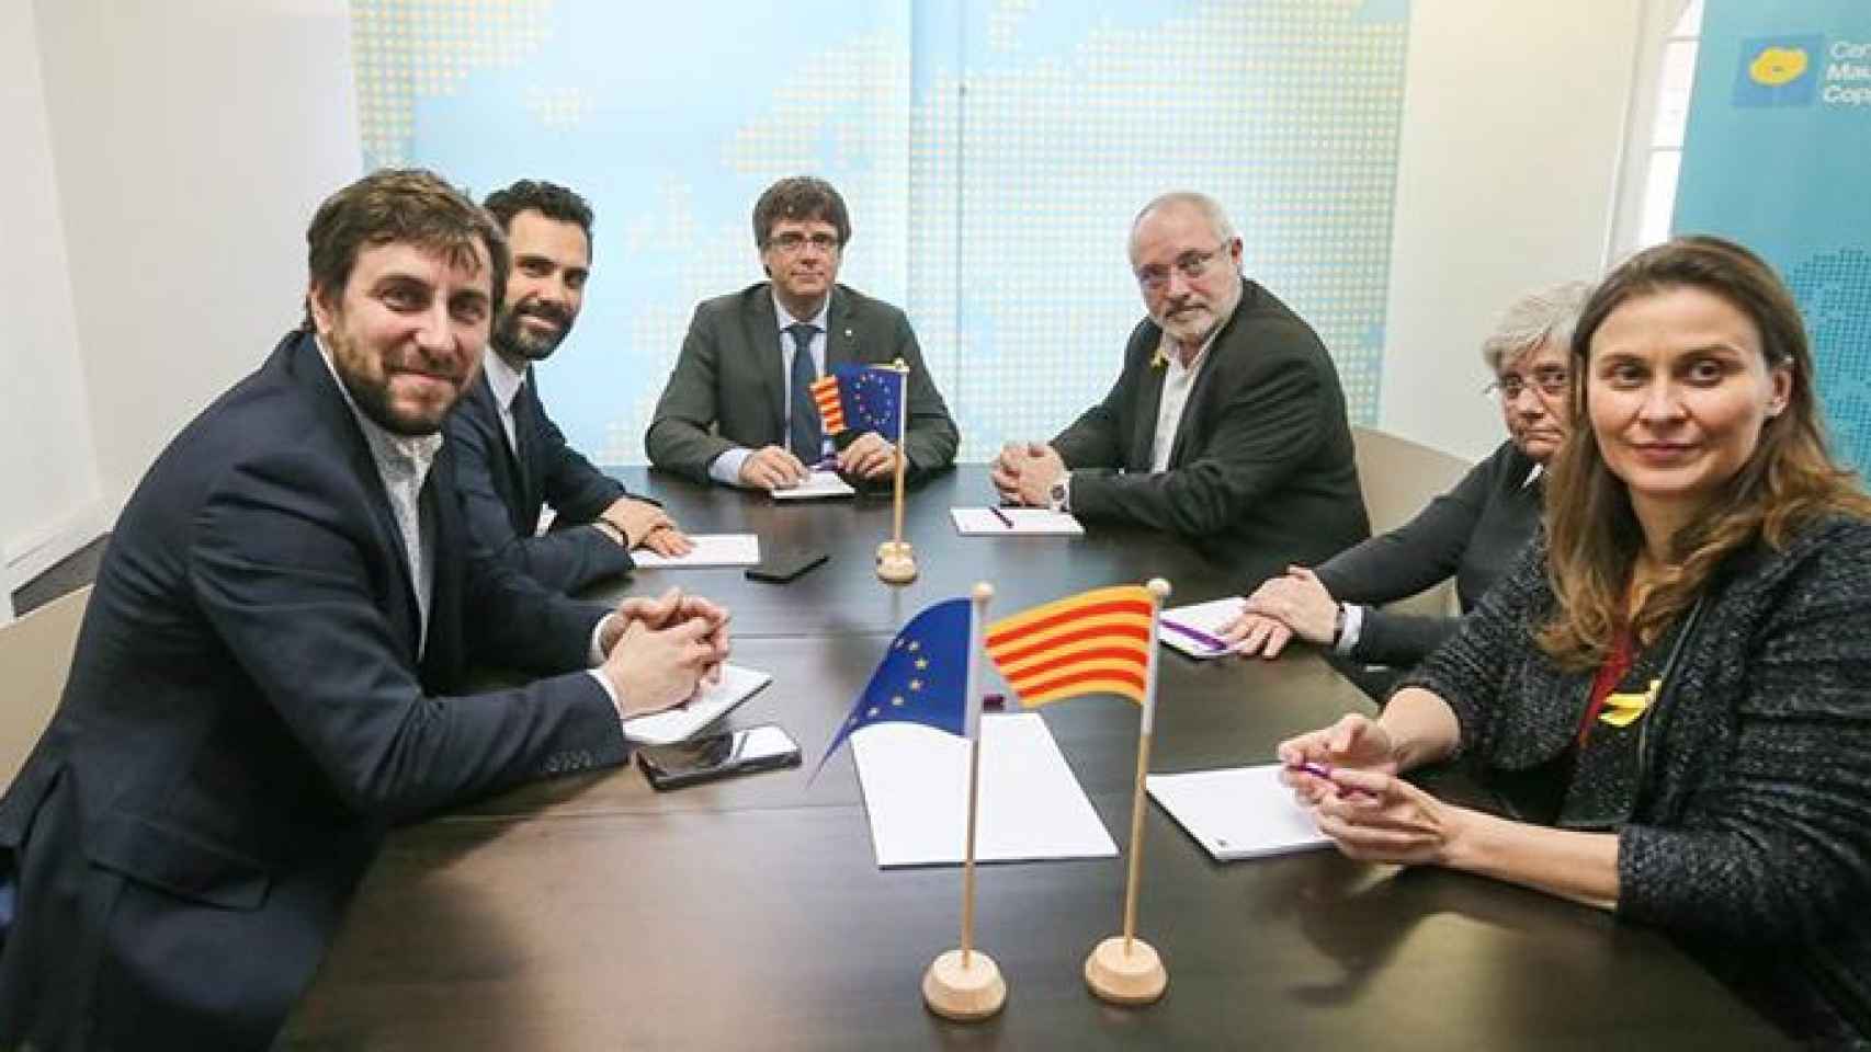
[[[350,13],[344,0],[36,9],[114,518],[168,439],[299,320],[305,222],[361,168]]]

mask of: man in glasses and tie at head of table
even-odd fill
[[[844,198],[825,179],[780,179],[754,204],[754,243],[771,282],[696,308],[644,445],[649,462],[696,480],[776,490],[836,458],[851,478],[892,471],[896,435],[825,435],[808,391],[838,364],[909,364],[909,471],[954,460],[960,434],[904,312],[838,282],[851,241]],[[805,351],[805,353],[799,353]]]

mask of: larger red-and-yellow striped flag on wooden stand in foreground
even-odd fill
[[[1093,589],[995,620],[984,645],[1025,708],[1085,693],[1149,704],[1153,617],[1139,585]]]

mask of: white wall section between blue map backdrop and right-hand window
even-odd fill
[[[1469,458],[1506,437],[1482,336],[1516,295],[1603,271],[1660,2],[1411,4],[1381,428]]]

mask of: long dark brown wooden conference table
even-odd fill
[[[1162,955],[1149,1007],[1091,996],[1083,960],[1121,931],[1124,860],[977,871],[977,944],[1005,1009],[958,1024],[921,977],[956,945],[960,867],[877,869],[849,749],[808,774],[892,633],[995,589],[990,617],[1164,577],[1171,605],[1231,574],[1169,536],[960,536],[986,469],[911,486],[921,576],[877,581],[891,497],[776,503],[617,469],[690,533],[816,546],[786,585],[735,568],[638,570],[595,596],[679,587],[733,613],[733,661],[773,682],[724,727],[780,723],[805,766],[655,792],[634,766],[531,783],[397,830],[296,1007],[286,1048],[1779,1048],[1789,1043],[1656,931],[1506,884],[1336,850],[1216,863],[1154,803],[1138,934]],[[1319,656],[1194,661],[1164,650],[1153,772],[1269,762],[1370,701]],[[1038,710],[1126,848],[1138,708]],[[1431,787],[1463,800],[1459,772]]]

